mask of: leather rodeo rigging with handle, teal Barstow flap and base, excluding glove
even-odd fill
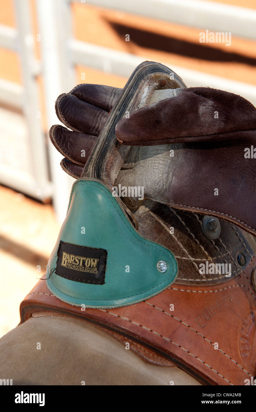
[[[159,203],[150,195],[134,208],[134,229],[121,199],[111,194],[129,151],[116,141],[116,123],[126,110],[149,105],[156,89],[185,87],[178,77],[168,80],[169,75],[165,66],[144,62],[130,77],[74,183],[46,277],[21,303],[21,323],[42,311],[75,316],[122,344],[130,342],[144,360],[176,365],[201,384],[244,385],[256,375],[256,245],[251,234],[244,234],[232,216],[223,223],[227,216],[219,209],[211,211],[221,220],[221,239],[214,243],[203,234],[197,215],[209,210],[200,204],[183,207],[188,203],[169,198]],[[62,250],[64,243],[67,249]],[[225,262],[230,273],[201,274],[199,262]]]

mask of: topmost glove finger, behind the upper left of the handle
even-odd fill
[[[78,84],[70,91],[70,94],[79,100],[110,112],[121,91],[122,89],[118,87],[103,86],[102,84]]]

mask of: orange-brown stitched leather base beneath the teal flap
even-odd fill
[[[56,298],[40,280],[21,303],[21,322],[38,310],[63,311],[132,339],[203,384],[244,385],[256,375],[254,268],[255,258],[223,285],[173,284],[135,305],[83,311]]]

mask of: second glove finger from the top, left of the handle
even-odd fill
[[[72,94],[63,93],[55,103],[58,119],[73,131],[98,136],[108,116],[108,112],[79,100]]]

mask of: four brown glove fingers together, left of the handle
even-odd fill
[[[84,164],[102,130],[107,116],[122,89],[99,84],[79,84],[61,94],[55,104],[58,119],[71,130],[56,124],[49,136],[65,158],[61,167],[79,178]]]

